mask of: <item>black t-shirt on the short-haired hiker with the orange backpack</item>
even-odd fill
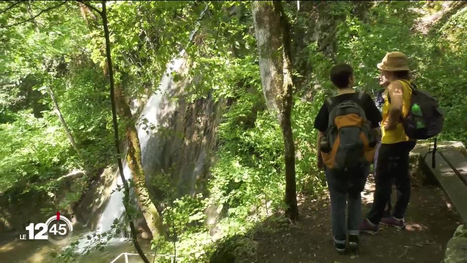
[[[337,95],[333,98],[333,106],[339,105],[339,103],[345,100],[351,100],[358,103],[365,111],[366,118],[371,122],[371,127],[379,127],[379,122],[382,120],[381,113],[371,99],[370,95],[366,93],[363,94],[361,100],[359,100],[359,93],[346,93]],[[327,102],[323,103],[323,106],[321,106],[321,109],[315,118],[314,127],[322,132],[326,131],[329,121],[328,105],[326,104]]]

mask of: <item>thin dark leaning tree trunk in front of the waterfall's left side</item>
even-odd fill
[[[131,231],[131,239],[133,241],[133,245],[136,248],[136,251],[138,251],[138,254],[140,255],[141,259],[144,261],[144,263],[149,263],[148,259],[144,255],[144,251],[141,249],[140,244],[138,243],[137,239],[137,233],[136,233],[136,228],[133,223],[133,220],[131,219],[131,214],[128,212],[129,211],[129,196],[130,196],[130,188],[128,186],[128,182],[126,182],[125,175],[123,173],[123,165],[122,165],[122,159],[120,158],[120,142],[119,142],[119,135],[118,135],[118,123],[117,123],[117,112],[116,112],[116,107],[115,107],[115,94],[114,94],[114,79],[113,79],[113,69],[112,69],[112,58],[111,58],[111,53],[110,53],[110,33],[108,31],[108,20],[107,20],[107,10],[106,10],[106,1],[102,1],[102,24],[104,25],[104,37],[106,38],[106,55],[107,55],[107,62],[108,62],[108,74],[109,74],[109,80],[110,80],[110,101],[112,104],[112,121],[113,121],[113,130],[114,130],[114,136],[115,136],[115,147],[117,150],[117,163],[118,163],[118,169],[120,171],[120,177],[122,178],[122,182],[124,185],[124,193],[125,193],[125,200],[123,202],[126,210],[126,214],[129,217],[129,225],[130,225],[130,231]]]

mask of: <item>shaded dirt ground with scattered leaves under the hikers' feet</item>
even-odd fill
[[[363,215],[373,202],[374,187],[370,174],[362,192]],[[359,255],[352,252],[339,255],[332,241],[329,196],[316,199],[301,196],[300,199],[301,220],[296,225],[274,233],[253,235],[259,262],[439,263],[444,258],[446,244],[460,224],[459,216],[441,188],[413,180],[406,229],[380,226],[376,236],[360,235]],[[395,188],[392,201],[394,205]]]

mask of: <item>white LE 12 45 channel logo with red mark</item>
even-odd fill
[[[29,224],[26,226],[26,230],[28,230],[28,234],[20,235],[19,239],[46,239],[53,244],[66,244],[72,236],[73,225],[68,218],[57,212],[56,216],[50,217],[45,223]]]

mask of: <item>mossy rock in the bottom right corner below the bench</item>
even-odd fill
[[[459,225],[446,245],[444,263],[467,262],[467,227]]]

